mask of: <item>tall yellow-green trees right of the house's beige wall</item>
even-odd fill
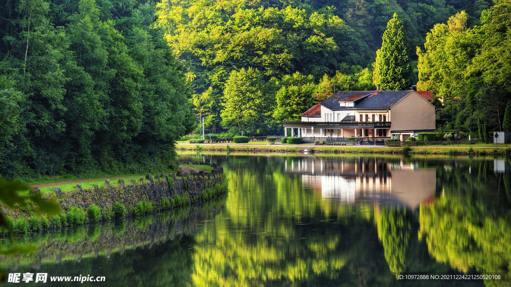
[[[443,100],[440,112],[445,127],[478,132],[489,138],[489,131],[502,129],[504,110],[511,98],[508,81],[511,55],[509,21],[502,17],[511,7],[496,2],[482,12],[480,25],[470,29],[470,15],[461,11],[447,24],[437,24],[426,36],[419,56],[417,88],[433,91]]]

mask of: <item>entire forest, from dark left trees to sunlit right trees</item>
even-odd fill
[[[198,130],[200,117],[207,133],[280,134],[282,121],[337,90],[375,89],[389,29],[403,32],[401,88],[435,93],[438,129],[485,138],[511,128],[509,0],[7,0],[3,8],[7,178],[169,168],[175,140]]]

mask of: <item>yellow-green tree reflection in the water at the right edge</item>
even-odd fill
[[[511,279],[511,184],[508,174],[491,172],[493,162],[465,161],[456,169],[437,169],[442,196],[420,207],[419,237],[439,262],[472,274]],[[469,168],[470,167],[470,168]]]

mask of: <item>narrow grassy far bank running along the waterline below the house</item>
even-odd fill
[[[314,145],[176,145],[181,151],[218,151],[246,153],[321,153],[321,154],[436,154],[436,155],[511,155],[511,148],[491,147],[386,147],[386,146],[314,146]]]

